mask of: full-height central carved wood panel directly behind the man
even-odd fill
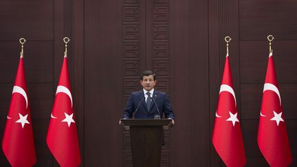
[[[151,69],[157,74],[156,89],[169,93],[168,1],[124,0],[123,8],[123,109],[133,91],[141,89],[140,74]],[[170,164],[170,133],[162,147],[162,166]],[[132,166],[129,131],[123,130],[123,164]]]

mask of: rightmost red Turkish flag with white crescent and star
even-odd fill
[[[258,145],[270,166],[288,166],[292,155],[272,53],[268,59],[260,112]]]

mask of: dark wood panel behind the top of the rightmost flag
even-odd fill
[[[240,64],[241,83],[263,83],[268,63],[269,42],[241,41]],[[275,36],[277,39],[277,36]],[[273,41],[273,58],[279,83],[297,83],[297,41]]]

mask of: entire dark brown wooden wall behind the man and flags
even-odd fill
[[[247,166],[268,166],[256,144],[273,34],[274,63],[297,166],[297,1],[294,0],[1,0],[0,138],[3,137],[19,38],[36,144],[36,166],[58,166],[45,137],[69,36],[69,72],[81,166],[131,166],[129,133],[118,125],[138,76],[153,69],[177,120],[166,132],[162,166],[224,166],[211,143],[214,113],[231,36],[230,63]],[[9,166],[2,150],[0,166]]]

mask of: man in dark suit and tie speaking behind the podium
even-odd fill
[[[122,118],[137,119],[171,119],[174,124],[175,114],[171,108],[170,101],[166,93],[154,89],[157,83],[153,71],[144,71],[140,77],[140,84],[143,89],[134,91],[126,104]]]

